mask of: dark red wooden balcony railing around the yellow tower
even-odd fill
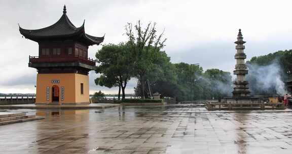
[[[95,66],[95,60],[85,57],[39,57],[39,56],[29,56],[29,63],[46,63],[46,62],[81,62],[91,66]]]

